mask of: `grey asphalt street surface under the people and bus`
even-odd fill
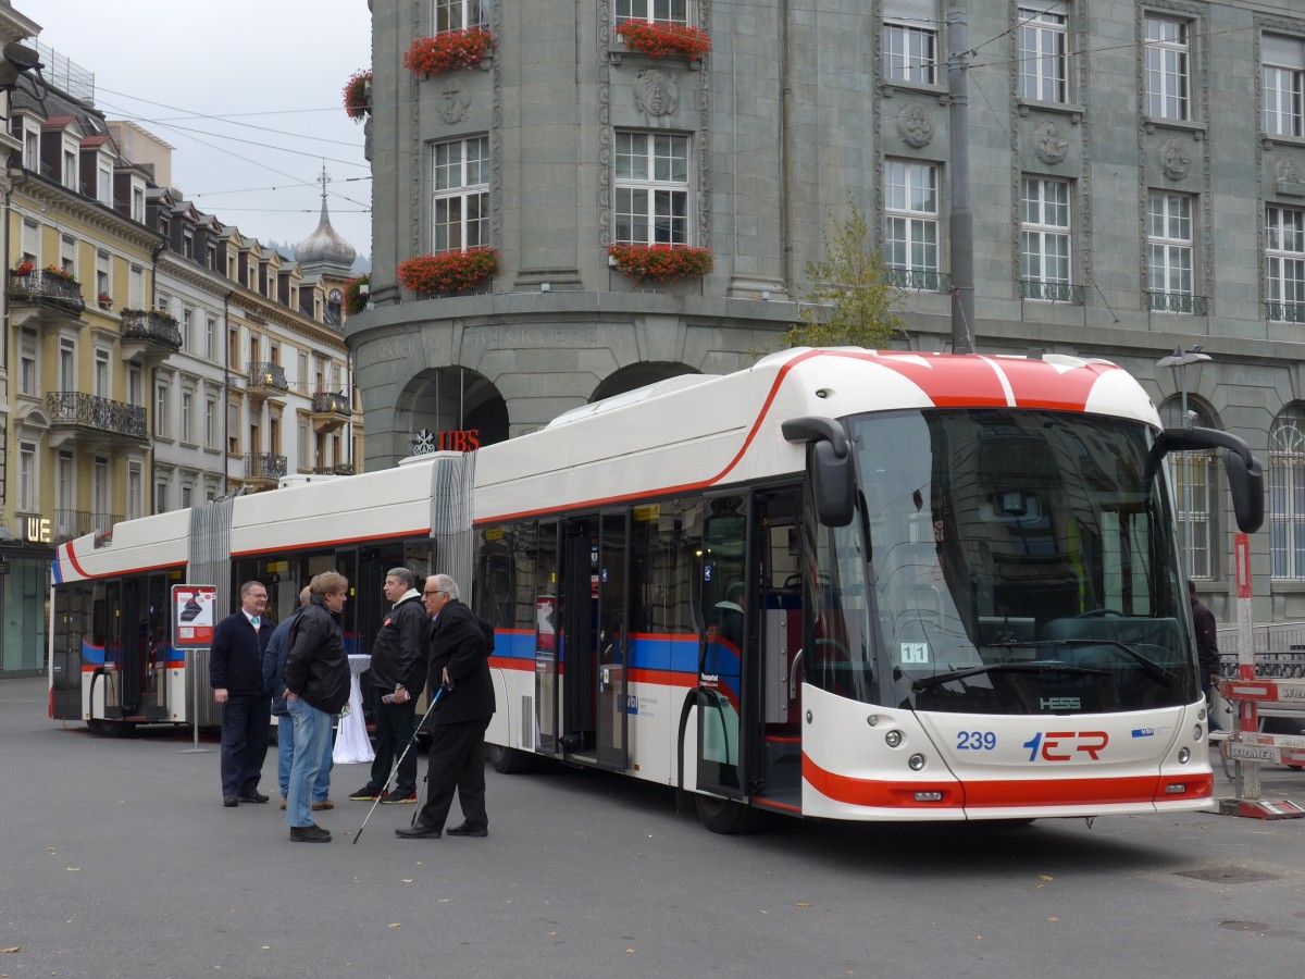
[[[397,839],[412,807],[381,805],[355,846],[369,804],[346,795],[367,766],[347,765],[318,813],[335,838],[308,845],[275,801],[224,809],[215,743],[189,747],[189,731],[64,728],[43,680],[0,681],[0,976],[1190,979],[1305,963],[1305,820],[720,837],[668,788],[491,770],[487,839]],[[275,799],[275,749],[264,771]],[[1263,782],[1305,803],[1305,774]]]

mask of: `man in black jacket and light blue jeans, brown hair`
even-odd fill
[[[322,572],[308,589],[312,594],[290,630],[290,653],[282,672],[286,709],[295,722],[286,822],[296,843],[329,843],[330,833],[313,822],[309,800],[330,741],[331,721],[348,702],[348,657],[339,628],[348,581],[338,572]]]

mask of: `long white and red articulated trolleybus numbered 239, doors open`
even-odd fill
[[[548,757],[676,786],[718,831],[765,811],[1201,809],[1206,704],[1165,457],[1212,449],[1257,529],[1245,443],[1163,431],[1107,362],[784,351],[472,456],[64,544],[51,713],[187,721],[185,659],[144,638],[170,580],[230,597],[258,578],[284,614],[307,574],[339,568],[365,651],[402,563],[470,580],[496,628],[501,771]]]

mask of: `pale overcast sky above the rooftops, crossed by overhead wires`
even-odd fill
[[[367,0],[13,0],[95,76],[95,104],[171,144],[172,184],[260,241],[331,225],[372,251],[363,125],[342,90],[372,63]]]

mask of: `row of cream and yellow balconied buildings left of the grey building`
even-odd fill
[[[305,272],[157,183],[171,148],[110,124],[94,76],[65,59],[54,74],[63,87],[18,77],[5,91],[0,675],[46,662],[59,543],[361,461],[343,338],[354,252],[325,202]]]

